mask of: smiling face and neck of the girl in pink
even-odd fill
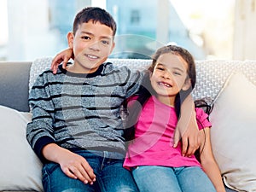
[[[188,64],[181,56],[172,53],[160,55],[150,78],[160,102],[174,106],[177,93],[189,89],[187,70]]]

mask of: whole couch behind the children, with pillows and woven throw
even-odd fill
[[[150,60],[109,59],[142,70]],[[27,98],[51,58],[0,62],[0,191],[43,191],[42,164],[26,142]],[[213,106],[212,150],[227,191],[256,191],[256,61],[196,61],[193,96]]]

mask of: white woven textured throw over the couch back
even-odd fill
[[[131,69],[147,69],[151,60],[142,59],[108,59],[118,66],[127,66]],[[32,63],[30,85],[39,73],[50,67],[51,58],[40,58]],[[230,77],[230,74],[241,72],[247,76],[253,84],[256,85],[256,61],[195,61],[196,64],[196,84],[193,90],[195,99],[204,98],[208,103],[212,103],[218,92],[224,86],[224,82]]]

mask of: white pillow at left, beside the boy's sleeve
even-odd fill
[[[0,190],[43,191],[42,163],[26,141],[31,117],[0,106]]]

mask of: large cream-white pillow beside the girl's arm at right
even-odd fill
[[[212,150],[230,189],[256,191],[256,86],[231,75],[214,102]]]

